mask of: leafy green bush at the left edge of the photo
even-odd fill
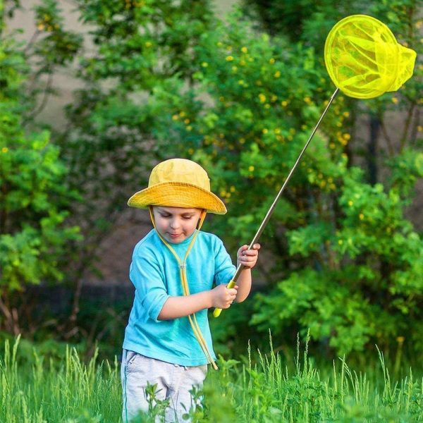
[[[63,178],[66,167],[47,131],[25,133],[20,90],[25,61],[10,39],[0,47],[0,326],[15,334],[13,293],[27,284],[58,282],[67,243],[78,227],[67,226],[68,206],[77,199]]]

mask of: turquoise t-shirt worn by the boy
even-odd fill
[[[182,243],[171,244],[181,260],[192,236]],[[200,231],[188,255],[186,271],[190,294],[195,294],[212,289],[214,283],[228,283],[235,274],[235,266],[222,241],[212,233]],[[188,317],[157,319],[164,302],[171,296],[183,295],[183,289],[176,257],[155,229],[135,245],[129,276],[135,286],[135,299],[123,348],[181,366],[207,364]],[[195,316],[215,360],[207,309],[196,312]]]

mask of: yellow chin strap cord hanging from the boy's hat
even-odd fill
[[[197,235],[200,233],[200,228],[202,227],[202,224],[204,223],[204,219],[206,218],[207,210],[202,209],[202,212],[200,214],[200,219],[198,219],[198,222],[197,222],[197,228],[195,230],[195,235],[192,237],[190,245],[188,245],[188,249],[187,249],[187,252],[185,253],[185,257],[183,258],[183,260],[181,260],[179,258],[179,256],[176,254],[176,251],[173,250],[173,247],[164,239],[164,237],[159,233],[159,231],[157,231],[156,221],[154,220],[153,206],[149,206],[149,214],[150,214],[150,219],[152,220],[152,224],[154,226],[154,229],[156,229],[157,235],[159,235],[159,238],[163,241],[164,245],[166,245],[166,247],[168,247],[168,249],[173,254],[173,257],[176,258],[176,261],[179,264],[180,282],[182,284],[183,295],[190,295],[190,289],[188,288],[188,276],[187,276],[185,263],[187,261],[188,255],[190,254],[192,246],[194,245],[195,240],[197,239]],[[204,337],[202,336],[200,326],[198,325],[197,318],[195,317],[195,313],[189,314],[188,320],[190,321],[192,331],[194,332],[195,338],[197,338],[197,341],[200,344],[200,347],[201,347],[204,355],[206,356],[207,361],[210,364],[212,364],[214,369],[217,370],[216,362],[214,362],[212,355],[209,352],[209,348],[207,347],[207,343],[206,343]]]

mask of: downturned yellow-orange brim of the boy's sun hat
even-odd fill
[[[214,214],[225,214],[226,206],[213,192],[183,182],[164,182],[145,188],[130,197],[128,206],[145,209],[149,206],[206,209]]]

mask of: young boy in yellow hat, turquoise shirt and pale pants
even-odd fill
[[[235,266],[221,240],[200,231],[207,212],[225,214],[226,207],[194,161],[158,164],[128,205],[149,207],[154,229],[137,243],[130,265],[135,300],[123,341],[123,422],[148,410],[147,383],[157,384],[156,398],[169,400],[165,421],[183,422],[190,390],[202,386],[208,363],[217,368],[207,309],[247,298],[260,246],[240,247],[239,287],[226,288]]]

